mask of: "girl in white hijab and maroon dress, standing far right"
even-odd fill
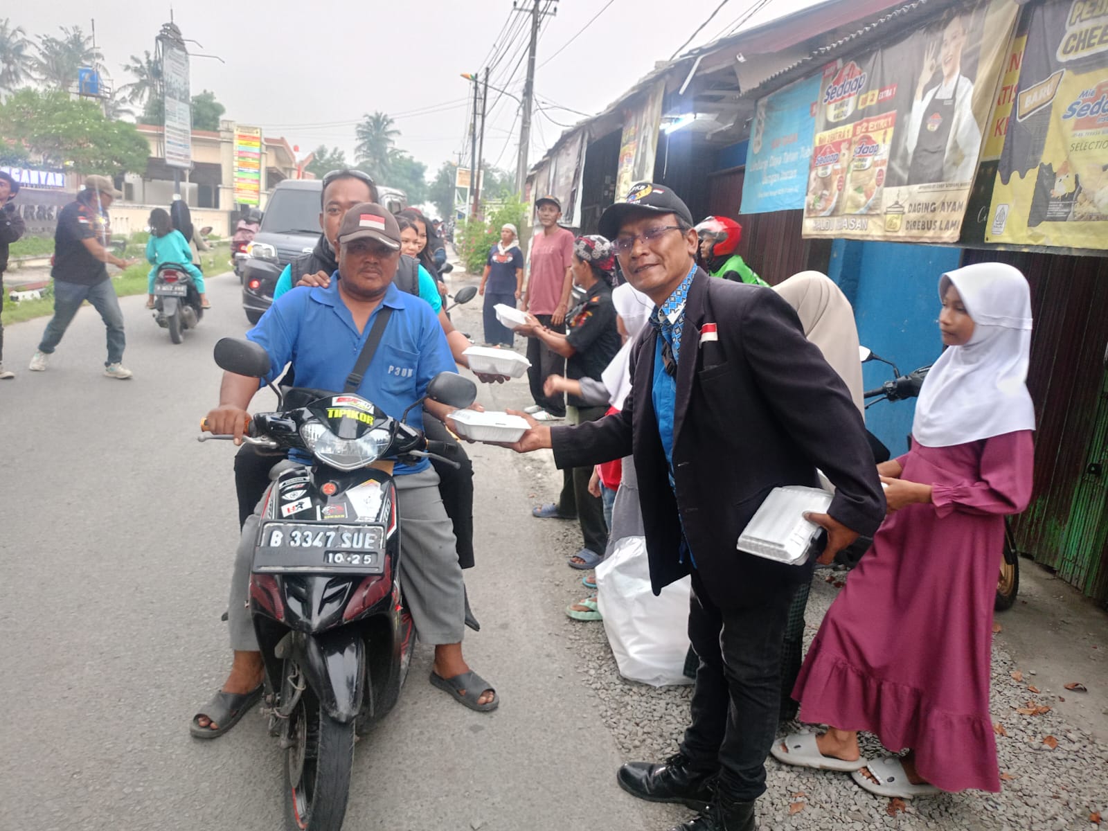
[[[1004,515],[1032,492],[1030,293],[999,263],[944,274],[938,290],[946,351],[924,381],[911,451],[878,465],[889,519],[792,693],[803,721],[832,727],[773,747],[882,797],[1001,790],[989,649]],[[864,760],[858,730],[911,752]]]

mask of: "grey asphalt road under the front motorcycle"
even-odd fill
[[[6,829],[281,827],[281,755],[263,717],[209,742],[187,731],[228,666],[219,615],[237,537],[234,449],[197,443],[197,422],[216,402],[212,347],[248,328],[233,275],[208,290],[215,308],[181,346],[142,297],[122,299],[129,381],[101,375],[91,308],[42,373],[25,367],[45,319],[6,331],[18,372],[0,382]],[[478,340],[479,304],[455,312]],[[523,381],[481,400],[529,403]],[[501,707],[471,712],[432,688],[420,648],[397,709],[357,747],[346,828],[668,829],[683,814],[616,786],[622,759],[556,634],[565,552],[527,516],[531,494],[552,495],[550,460],[472,455],[468,584],[484,628],[465,654]]]

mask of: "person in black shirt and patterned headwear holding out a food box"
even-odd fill
[[[612,304],[612,273],[615,254],[612,243],[602,236],[582,236],[574,240],[573,284],[585,293],[585,300],[566,315],[565,335],[553,331],[527,315],[527,322],[517,331],[537,338],[552,352],[566,359],[566,377],[574,381],[583,378],[601,380],[612,359],[620,348],[616,328],[616,310]],[[570,394],[567,414],[571,423],[595,421],[607,407],[589,406],[579,396]],[[570,558],[571,568],[588,570],[595,566],[607,547],[608,530],[604,524],[604,505],[599,497],[588,492],[592,468],[573,468],[563,471],[562,494],[556,505],[540,505],[532,511],[535,516],[576,516],[581,522],[584,546]]]

